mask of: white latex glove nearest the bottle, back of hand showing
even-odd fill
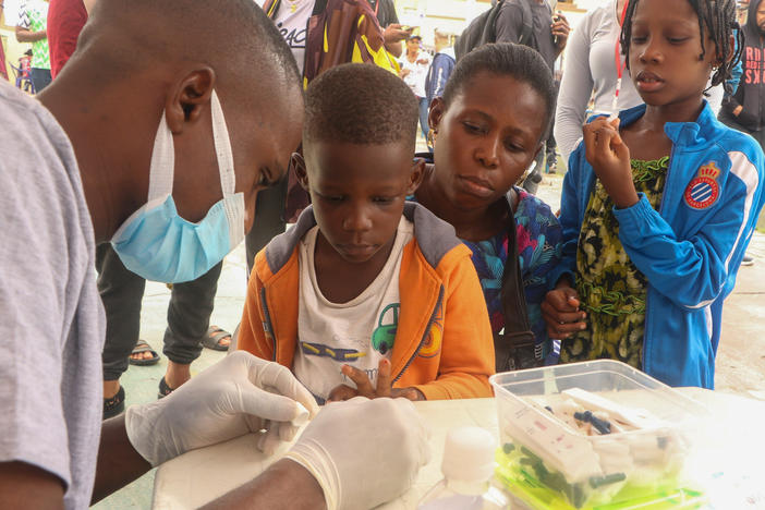
[[[356,397],[327,404],[286,457],[314,475],[328,510],[361,510],[410,488],[428,436],[411,401]]]

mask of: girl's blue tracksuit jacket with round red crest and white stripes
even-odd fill
[[[645,105],[620,113],[621,125]],[[670,386],[714,388],[722,301],[763,208],[764,157],[749,135],[725,126],[708,105],[696,122],[667,123],[672,142],[659,210],[645,196],[614,209],[619,239],[648,280],[643,371]],[[580,142],[563,181],[563,258],[550,275],[573,279],[576,243],[595,173]]]

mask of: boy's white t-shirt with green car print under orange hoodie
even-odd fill
[[[314,252],[318,227],[300,243],[300,292],[295,377],[319,400],[339,385],[355,388],[340,369],[351,365],[365,371],[377,384],[377,366],[390,359],[399,318],[399,274],[403,247],[414,224],[401,218],[390,256],[380,274],[348,303],[331,303],[318,288]],[[352,277],[352,276],[350,276]]]

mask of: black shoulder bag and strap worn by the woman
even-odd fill
[[[515,218],[510,208],[508,221],[508,258],[502,269],[500,299],[505,329],[494,335],[494,355],[496,372],[534,368],[544,364],[542,344],[535,345],[534,332],[529,321],[526,294],[523,290],[523,277],[518,259],[518,240],[515,239]]]

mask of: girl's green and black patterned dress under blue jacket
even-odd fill
[[[654,161],[633,159],[632,180],[658,210],[669,157]],[[635,368],[643,364],[647,280],[619,241],[614,202],[595,181],[584,214],[576,253],[576,292],[587,313],[587,329],[563,340],[562,363],[607,357]]]

